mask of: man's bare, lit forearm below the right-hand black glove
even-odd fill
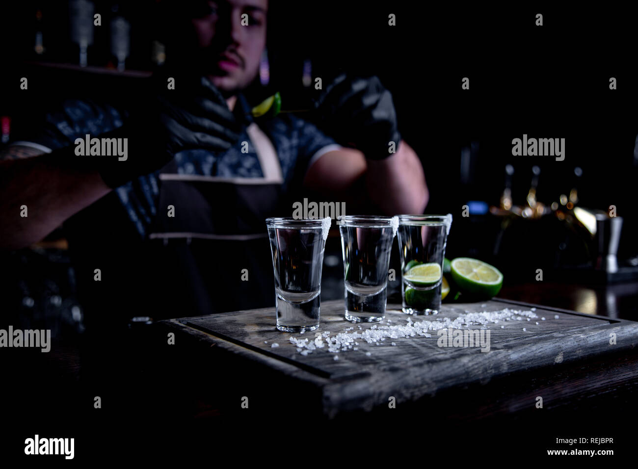
[[[367,161],[367,192],[385,214],[421,214],[429,199],[419,157],[401,140],[397,153],[380,161]]]

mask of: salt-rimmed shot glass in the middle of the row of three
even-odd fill
[[[388,268],[399,219],[387,216],[344,215],[339,220],[345,318],[376,322],[385,317]]]

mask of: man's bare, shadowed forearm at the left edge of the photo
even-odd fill
[[[0,248],[40,241],[110,188],[94,170],[58,167],[29,147],[0,153]],[[26,205],[27,216],[23,205]]]

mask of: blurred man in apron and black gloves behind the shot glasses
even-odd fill
[[[63,225],[89,327],[91,317],[120,324],[274,304],[264,219],[292,216],[300,190],[388,215],[427,204],[422,165],[377,78],[324,84],[323,131],[292,114],[256,123],[242,89],[258,74],[267,0],[170,5],[172,63],[145,96],[126,108],[100,102],[99,90],[66,99],[0,155],[0,247]],[[128,139],[126,158],[78,156],[87,134]]]

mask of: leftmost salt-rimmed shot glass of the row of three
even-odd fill
[[[330,222],[330,218],[266,219],[279,331],[306,332],[319,327],[321,271]]]

